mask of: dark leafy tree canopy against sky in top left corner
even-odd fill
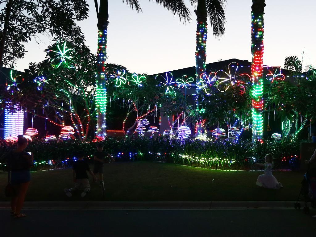
[[[88,16],[85,0],[6,0],[0,11],[0,69],[13,66],[25,54],[25,46],[38,34],[81,41],[76,21]]]

